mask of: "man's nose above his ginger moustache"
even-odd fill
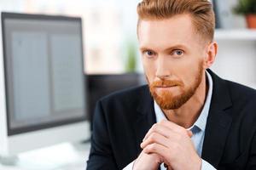
[[[157,60],[157,70],[156,70],[155,76],[160,79],[166,79],[171,76],[170,65],[164,58],[165,57],[160,56]]]

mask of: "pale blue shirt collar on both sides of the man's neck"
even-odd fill
[[[206,73],[207,73],[207,81],[208,81],[208,85],[209,85],[207,99],[206,99],[205,105],[201,111],[200,116],[197,118],[194,125],[192,127],[189,127],[189,130],[194,127],[198,127],[201,131],[205,131],[206,126],[207,126],[207,117],[208,117],[208,113],[209,113],[210,105],[211,105],[213,83],[212,83],[212,76],[207,71],[206,71]],[[156,122],[160,122],[161,120],[166,120],[165,114],[160,109],[160,106],[157,105],[155,100],[154,100],[154,112],[155,112],[155,116],[156,116]]]

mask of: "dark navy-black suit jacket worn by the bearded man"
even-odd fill
[[[202,158],[217,169],[256,169],[256,91],[212,76],[212,101]],[[98,101],[87,169],[122,169],[141,152],[155,122],[148,86]]]

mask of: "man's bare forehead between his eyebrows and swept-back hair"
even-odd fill
[[[164,20],[140,20],[138,26],[140,47],[172,48],[201,41],[189,14],[180,14]]]

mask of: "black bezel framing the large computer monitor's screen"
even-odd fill
[[[55,121],[55,122],[48,122],[48,123],[42,123],[40,125],[32,125],[27,127],[17,127],[17,128],[11,128],[10,127],[10,117],[9,117],[9,82],[7,81],[8,78],[8,68],[7,68],[7,55],[6,55],[6,37],[5,37],[5,20],[9,19],[17,19],[17,20],[58,20],[58,21],[78,21],[79,22],[79,34],[81,35],[81,54],[82,54],[82,68],[84,69],[84,42],[83,42],[83,25],[82,25],[82,19],[80,17],[71,17],[71,16],[63,16],[63,15],[49,15],[49,14],[21,14],[21,13],[9,13],[9,12],[2,12],[1,13],[1,24],[2,24],[2,42],[3,42],[3,71],[4,71],[4,83],[5,83],[5,99],[6,99],[6,118],[7,118],[7,129],[8,129],[8,136],[12,136],[15,134],[20,133],[29,133],[32,131],[37,130],[44,130],[50,127],[59,127],[75,122],[86,122],[88,121],[87,116],[87,104],[86,99],[87,98],[87,83],[86,78],[82,77],[83,80],[83,87],[84,87],[84,115],[79,118],[73,118],[70,120],[65,121]],[[83,70],[84,72],[84,70]]]

